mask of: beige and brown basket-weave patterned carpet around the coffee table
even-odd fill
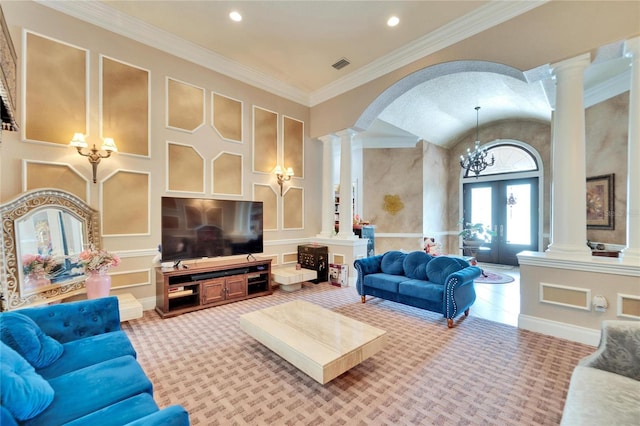
[[[385,349],[320,385],[244,334],[239,315],[294,298],[388,332]],[[471,308],[473,310],[473,307]],[[557,425],[581,345],[441,315],[327,283],[123,324],[161,407],[193,425]]]

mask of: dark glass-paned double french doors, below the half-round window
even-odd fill
[[[475,253],[479,262],[517,265],[516,254],[538,250],[538,178],[465,183],[463,193],[464,221],[496,233]]]

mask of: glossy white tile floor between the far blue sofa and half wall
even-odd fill
[[[491,321],[518,326],[520,313],[520,269],[517,266],[478,264],[481,268],[511,275],[515,281],[507,284],[476,283],[476,302],[470,315]]]

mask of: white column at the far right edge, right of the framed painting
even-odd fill
[[[631,57],[629,89],[629,142],[627,147],[627,247],[622,258],[640,263],[640,37],[625,42]]]

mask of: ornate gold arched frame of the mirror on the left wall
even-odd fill
[[[60,301],[84,293],[84,275],[75,274],[61,282],[26,290],[21,256],[21,238],[18,224],[34,213],[67,213],[80,222],[83,246],[100,248],[100,216],[98,211],[73,194],[56,189],[39,189],[25,192],[0,206],[2,220],[2,259],[0,259],[1,311]],[[48,226],[48,224],[47,224]],[[61,230],[52,230],[61,232]]]

